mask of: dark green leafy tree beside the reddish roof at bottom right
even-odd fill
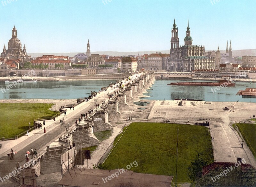
[[[203,167],[209,164],[209,161],[204,158],[203,152],[196,151],[196,157],[188,167],[187,176],[192,181],[191,186],[195,185],[196,180],[200,179],[203,174]]]

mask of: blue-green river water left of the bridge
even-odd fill
[[[77,99],[87,97],[91,91],[99,91],[102,86],[116,80],[78,80],[78,81],[37,81],[18,83],[16,87],[0,91],[0,99]],[[1,88],[8,84],[0,82]]]

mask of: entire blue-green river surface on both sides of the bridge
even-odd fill
[[[43,81],[36,83],[18,83],[16,87],[0,91],[0,99],[77,99],[86,97],[91,91],[99,91],[102,86],[108,86],[115,80],[78,80],[78,81]],[[149,100],[174,100],[194,99],[204,101],[240,101],[255,102],[256,98],[243,98],[236,95],[239,90],[252,87],[256,83],[236,82],[235,87],[222,88],[212,93],[211,86],[169,86],[170,82],[177,80],[156,80],[151,90],[147,90]],[[179,82],[185,82],[179,80]],[[6,88],[4,82],[0,82],[1,88]]]

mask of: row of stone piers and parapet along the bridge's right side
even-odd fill
[[[122,87],[114,97],[100,104],[100,108],[94,108],[93,112],[81,123],[71,125],[59,137],[58,145],[47,146],[40,151],[35,158],[36,164],[30,167],[36,169],[37,175],[60,172],[62,168],[61,155],[69,149],[75,147],[76,150],[79,150],[99,145],[99,140],[93,132],[112,130],[110,122],[120,120],[121,113],[129,111],[129,106],[133,104],[134,100],[138,100],[138,96],[149,89],[154,81],[154,72],[149,72]],[[80,100],[82,102],[81,98]],[[19,180],[14,176],[12,178],[16,181]]]

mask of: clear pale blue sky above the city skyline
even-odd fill
[[[255,0],[0,0],[0,14],[0,48],[15,25],[28,53],[169,50],[174,19],[180,45],[189,19],[193,45],[256,49]]]

